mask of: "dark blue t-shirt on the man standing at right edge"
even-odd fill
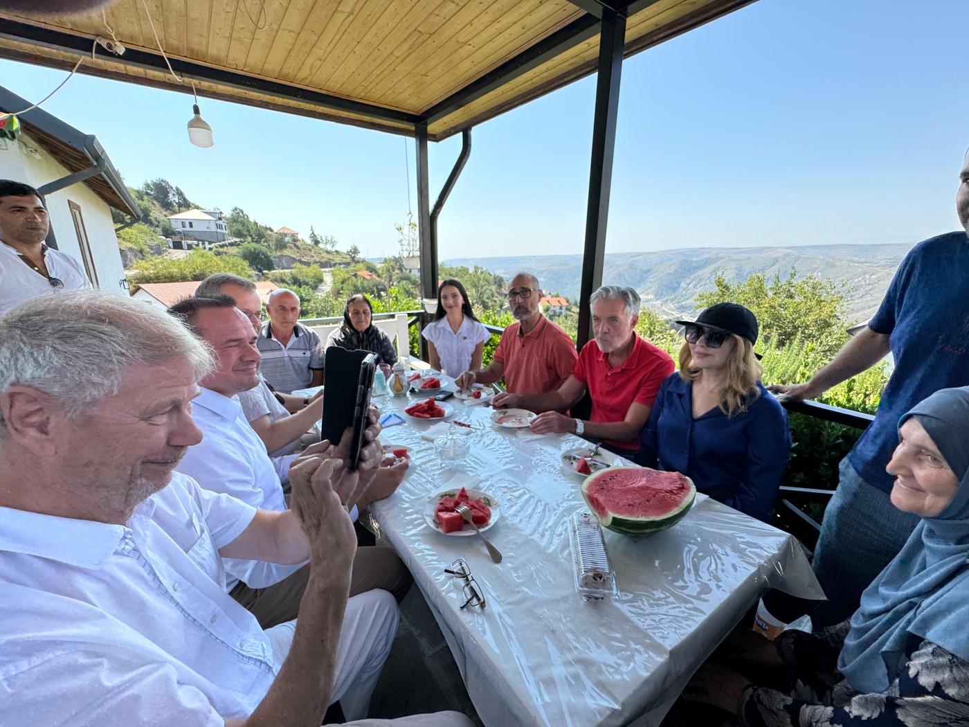
[[[969,385],[969,238],[948,233],[905,256],[868,328],[890,336],[895,368],[875,421],[848,461],[880,490],[894,482],[886,465],[898,444],[898,420],[940,389]]]

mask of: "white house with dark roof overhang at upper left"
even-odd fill
[[[16,113],[22,133],[0,137],[0,178],[36,187],[50,219],[47,245],[76,258],[96,288],[128,288],[116,232],[141,219],[141,209],[101,143],[0,86],[0,111]],[[129,221],[116,225],[111,210]]]

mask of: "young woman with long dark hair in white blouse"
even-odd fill
[[[437,314],[423,332],[431,368],[457,376],[482,367],[485,341],[491,336],[475,317],[464,286],[448,279],[437,290]]]

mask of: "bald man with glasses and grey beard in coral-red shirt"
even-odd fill
[[[578,354],[568,333],[542,315],[542,288],[530,272],[519,272],[508,290],[508,307],[517,319],[501,334],[491,363],[455,379],[459,389],[493,384],[505,377],[515,394],[546,394],[572,374]]]

